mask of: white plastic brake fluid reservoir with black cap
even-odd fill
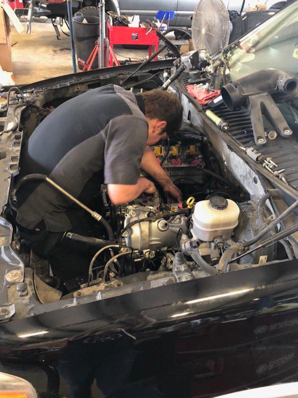
[[[229,239],[238,225],[239,212],[237,204],[230,199],[213,196],[201,200],[193,213],[194,234],[205,242],[211,242],[215,236]]]

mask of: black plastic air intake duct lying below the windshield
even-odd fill
[[[298,82],[280,69],[262,69],[246,75],[221,88],[222,99],[229,110],[241,106],[250,112],[255,142],[266,144],[263,116],[283,137],[292,135],[292,130],[276,102],[291,100],[297,95]]]

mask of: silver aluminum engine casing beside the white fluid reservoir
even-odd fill
[[[153,207],[127,206],[124,226],[134,220],[146,218],[152,211],[155,211]],[[173,216],[168,220],[161,218],[156,221],[142,221],[128,228],[125,244],[138,250],[173,247],[176,245],[179,229],[182,229],[183,232],[186,231],[186,216],[183,214]]]

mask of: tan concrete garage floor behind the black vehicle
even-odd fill
[[[22,23],[26,31],[26,22]],[[63,30],[68,32],[65,25]],[[17,34],[11,26],[10,40],[13,74],[17,85],[73,72],[70,38],[61,32],[61,40],[57,40],[50,21],[33,22],[30,35],[25,32]],[[142,58],[148,54],[147,50],[127,50],[122,47],[116,48],[115,51],[122,55],[116,55],[119,60],[129,57]]]

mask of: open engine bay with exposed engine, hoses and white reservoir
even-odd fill
[[[257,200],[250,199],[224,170],[209,139],[191,123],[185,122],[174,139],[152,150],[185,200],[167,203],[159,190],[155,197],[143,195],[115,206],[102,185],[96,210],[111,225],[115,241],[105,240],[96,221],[92,237],[68,232],[65,239],[81,245],[85,252],[87,249],[92,261],[88,274],[63,286],[51,276],[48,262],[18,240],[16,230],[15,244],[25,266],[33,269],[37,295],[45,284],[67,300],[92,294],[120,295],[216,275],[226,249],[252,239],[262,229],[270,216],[267,206],[260,207]],[[228,264],[226,271],[276,259],[277,244],[273,244]]]

